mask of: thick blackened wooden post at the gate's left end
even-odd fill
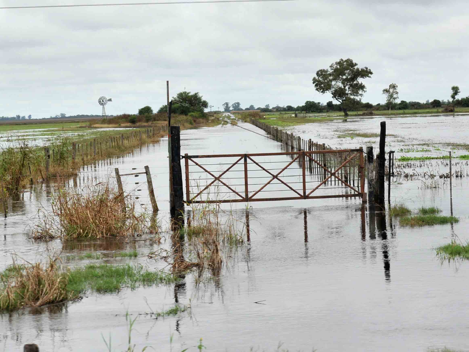
[[[171,216],[180,217],[184,221],[184,217],[181,216],[184,212],[184,191],[181,170],[181,128],[179,126],[171,126],[171,161],[174,193]]]

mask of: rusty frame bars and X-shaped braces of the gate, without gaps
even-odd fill
[[[326,154],[326,153],[354,153],[352,156],[350,156],[346,161],[344,161],[338,168],[336,168],[334,171],[329,170],[325,165],[322,165],[319,161],[317,161],[312,155],[318,155],[318,154]],[[263,167],[259,162],[255,161],[253,157],[256,156],[279,156],[279,155],[288,155],[294,157],[292,161],[290,161],[287,166],[282,168],[277,174],[273,174],[270,170],[267,168]],[[340,176],[337,175],[337,173],[344,168],[350,161],[352,161],[356,156],[359,156],[360,158],[360,188],[357,190],[355,187],[350,185],[348,182],[344,181]],[[238,159],[234,161],[226,170],[221,172],[218,176],[215,176],[211,171],[207,170],[204,168],[203,165],[199,164],[197,161],[194,159],[197,158],[232,158],[232,157],[237,157]],[[306,172],[305,172],[305,165],[306,165],[306,160],[311,160],[315,164],[318,165],[319,168],[324,170],[326,173],[329,175],[325,177],[325,179],[318,184],[314,189],[312,189],[309,193],[307,193],[306,190]],[[360,149],[346,149],[346,150],[324,150],[324,151],[309,151],[309,152],[291,152],[291,153],[255,153],[255,154],[220,154],[220,155],[191,155],[189,156],[188,154],[185,154],[182,156],[182,159],[185,159],[185,169],[186,169],[186,202],[188,204],[190,203],[237,203],[237,202],[259,202],[259,201],[274,201],[274,200],[294,200],[294,199],[325,199],[325,198],[350,198],[350,197],[362,197],[364,196],[364,185],[365,185],[365,179],[364,179],[364,158],[363,158],[363,148]],[[228,171],[230,171],[234,166],[238,165],[240,161],[244,159],[244,196],[240,194],[238,191],[234,190],[232,187],[230,187],[228,184],[223,182],[221,180],[221,177],[223,177]],[[302,168],[303,168],[303,194],[295,190],[293,187],[291,187],[287,182],[283,181],[279,176],[287,169],[289,168],[295,161],[301,160]],[[261,170],[264,170],[267,174],[272,176],[272,178],[267,181],[265,184],[263,184],[258,190],[254,191],[252,195],[249,195],[249,177],[248,177],[248,160],[250,160],[253,164],[257,165]],[[201,191],[197,193],[194,197],[191,197],[190,195],[190,184],[189,184],[189,161],[193,162],[194,165],[196,165],[198,168],[201,168],[204,172],[206,172],[208,175],[213,177],[213,180],[210,182],[210,184],[206,185]],[[258,170],[260,171],[260,170]],[[353,194],[336,194],[336,195],[322,195],[322,196],[311,196],[315,191],[317,191],[322,185],[324,185],[328,180],[330,180],[332,177],[335,177],[341,184],[344,184],[346,187],[354,191],[355,193]],[[280,181],[281,184],[285,185],[288,189],[291,191],[295,192],[298,196],[295,197],[276,197],[276,198],[254,198],[259,192],[265,189],[269,184],[272,183],[272,181],[277,180]],[[236,199],[223,199],[223,200],[195,200],[197,199],[204,191],[206,191],[212,184],[215,184],[216,182],[219,182],[223,184],[225,187],[227,187],[231,192],[233,192],[237,197]],[[274,192],[274,191],[272,191]]]

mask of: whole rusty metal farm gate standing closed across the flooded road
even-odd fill
[[[182,159],[188,204],[365,196],[363,148]]]

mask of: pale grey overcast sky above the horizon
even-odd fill
[[[133,1],[133,0],[125,0]],[[137,1],[137,0],[136,0]],[[0,6],[113,0],[0,0]],[[115,2],[124,2],[117,0]],[[469,95],[467,1],[297,0],[0,10],[0,115],[108,114],[200,92],[215,109],[327,102],[311,83],[340,58],[367,66],[363,101]]]

